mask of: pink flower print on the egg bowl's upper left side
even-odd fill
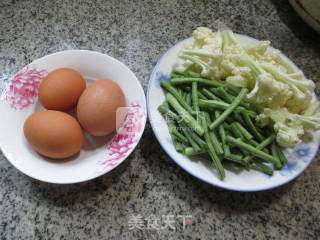
[[[24,68],[10,81],[5,99],[13,109],[22,110],[36,102],[39,85],[47,74],[45,70]]]

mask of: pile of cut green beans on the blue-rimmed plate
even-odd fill
[[[246,100],[248,89],[233,89],[193,71],[172,71],[170,76],[160,82],[166,100],[158,111],[177,152],[209,157],[221,180],[225,164],[267,175],[288,164],[274,131],[258,126],[258,113]]]

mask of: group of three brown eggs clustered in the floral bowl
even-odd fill
[[[95,80],[86,86],[81,74],[70,68],[56,69],[41,81],[39,102],[45,110],[26,119],[24,135],[33,149],[53,159],[78,153],[84,143],[83,130],[93,136],[115,131],[116,111],[126,105],[114,81]],[[69,114],[72,110],[76,110],[75,117]]]

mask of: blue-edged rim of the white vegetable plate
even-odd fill
[[[238,35],[238,36],[242,36],[242,35]],[[243,36],[245,38],[248,38],[248,39],[252,39],[252,41],[256,41],[255,39],[251,38],[251,37],[247,37],[247,36]],[[224,186],[224,185],[221,185],[221,184],[217,184],[217,183],[213,183],[213,182],[210,182],[208,181],[208,179],[202,177],[201,174],[196,174],[194,172],[191,172],[189,171],[185,165],[179,163],[174,154],[172,154],[167,148],[166,148],[166,143],[165,143],[165,139],[161,139],[161,137],[159,136],[159,133],[158,133],[158,130],[156,128],[156,126],[154,125],[153,123],[153,120],[152,120],[152,111],[154,109],[151,109],[151,106],[150,106],[150,94],[151,94],[151,86],[152,84],[154,83],[154,81],[156,80],[156,77],[155,77],[155,74],[157,74],[157,71],[158,71],[158,66],[159,64],[161,63],[161,61],[166,57],[166,55],[168,55],[168,53],[173,49],[175,48],[177,45],[179,44],[182,44],[182,42],[186,41],[188,39],[185,39],[185,40],[181,40],[181,41],[178,41],[176,44],[174,44],[172,47],[170,47],[165,53],[162,54],[162,56],[160,57],[160,59],[158,60],[157,64],[153,67],[153,70],[151,71],[150,75],[149,75],[149,79],[148,79],[148,87],[147,87],[147,112],[148,112],[148,118],[149,118],[149,122],[150,122],[150,125],[151,125],[151,128],[158,140],[158,142],[160,143],[161,147],[164,149],[164,151],[170,156],[170,158],[172,160],[174,160],[182,169],[184,169],[186,172],[188,172],[190,175],[192,175],[193,177],[195,178],[198,178],[210,185],[213,185],[213,186],[217,186],[217,187],[220,187],[220,188],[223,188],[223,189],[227,189],[227,190],[232,190],[232,191],[238,191],[238,192],[259,192],[259,191],[265,191],[265,190],[270,190],[270,189],[273,189],[273,188],[277,188],[277,187],[280,187],[284,184],[287,184],[288,182],[292,181],[293,179],[297,178],[298,176],[300,176],[302,174],[302,172],[305,171],[305,169],[311,164],[311,162],[313,161],[313,159],[315,158],[316,156],[316,153],[317,151],[313,151],[310,155],[308,155],[308,161],[305,162],[305,164],[303,165],[302,168],[299,169],[299,171],[295,172],[293,170],[290,170],[290,164],[288,165],[287,167],[287,171],[292,173],[293,174],[288,174],[286,180],[284,181],[281,181],[277,184],[273,184],[271,186],[266,186],[266,187],[257,187],[257,188],[235,188],[235,187],[228,187],[228,186]],[[298,67],[290,60],[288,59],[285,55],[283,55],[283,57],[288,60],[288,62],[290,62],[296,69],[298,69]],[[161,74],[160,74],[161,75]],[[159,105],[160,105],[160,102],[159,102]],[[319,146],[319,144],[317,144]],[[303,157],[303,153],[299,153],[299,151],[302,151],[302,150],[296,150],[297,152],[297,158],[302,158]],[[292,166],[291,166],[292,167]],[[266,178],[267,180],[267,178]],[[226,181],[226,180],[225,180]]]

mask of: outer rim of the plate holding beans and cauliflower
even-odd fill
[[[245,34],[239,34],[239,33],[234,33],[236,36],[237,35],[240,35],[240,36],[243,36],[243,37],[246,37],[246,38],[249,38],[249,39],[253,39],[255,41],[259,41],[258,39],[255,39],[253,37],[250,37],[248,35],[245,35]],[[304,165],[303,168],[301,168],[301,170],[299,172],[297,172],[296,174],[293,174],[291,177],[287,178],[286,181],[284,182],[281,182],[281,183],[278,183],[278,184],[275,184],[273,186],[267,186],[267,187],[263,187],[263,188],[250,188],[250,189],[237,189],[237,188],[232,188],[232,187],[228,187],[228,186],[223,186],[223,185],[219,185],[219,184],[215,184],[213,182],[210,182],[208,181],[207,179],[201,177],[201,175],[196,175],[190,171],[188,171],[183,164],[180,164],[178,161],[175,160],[175,157],[166,149],[166,147],[164,147],[164,144],[162,143],[162,141],[160,140],[160,137],[158,135],[158,132],[156,130],[156,127],[153,125],[153,121],[151,121],[151,109],[150,109],[150,104],[149,104],[149,97],[150,97],[150,88],[151,88],[151,80],[152,80],[152,77],[154,76],[154,73],[156,72],[156,69],[158,67],[158,65],[160,64],[161,60],[168,54],[169,51],[171,51],[175,46],[177,46],[178,44],[181,44],[182,42],[184,41],[187,41],[188,39],[191,39],[192,37],[188,37],[188,38],[185,38],[185,39],[182,39],[182,40],[179,40],[177,42],[175,42],[171,47],[169,47],[165,52],[163,52],[161,55],[160,55],[160,58],[159,60],[157,61],[157,63],[154,65],[154,67],[152,68],[152,71],[150,72],[149,74],[149,78],[148,78],[148,86],[147,86],[147,94],[146,94],[146,101],[147,101],[147,112],[148,112],[148,116],[149,116],[149,123],[151,125],[151,128],[152,128],[152,131],[158,141],[158,143],[160,144],[160,146],[162,147],[162,149],[165,151],[165,153],[179,166],[181,167],[185,172],[187,172],[188,174],[190,174],[191,176],[193,176],[194,178],[196,179],[199,179],[211,186],[214,186],[214,187],[219,187],[221,189],[224,189],[224,190],[229,190],[229,191],[234,191],[234,192],[262,192],[262,191],[267,191],[267,190],[272,190],[272,189],[275,189],[275,188],[278,188],[278,187],[281,187],[283,185],[286,185],[287,183],[295,180],[296,178],[298,178],[309,166],[310,164],[314,161],[317,153],[318,153],[318,150],[312,155],[311,157],[311,160],[306,164]],[[288,60],[292,65],[294,65],[294,67],[296,67],[297,69],[298,66],[291,60],[289,59],[285,54],[283,54],[283,52],[281,51],[281,55],[283,57],[286,58],[286,60]],[[153,82],[152,82],[153,83]],[[319,148],[319,144],[318,144],[318,148]],[[179,154],[179,153],[178,153]]]

